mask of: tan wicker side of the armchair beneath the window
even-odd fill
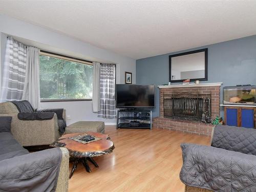
[[[0,116],[12,117],[11,133],[23,146],[49,145],[60,137],[56,114],[50,120],[19,120],[16,113]]]

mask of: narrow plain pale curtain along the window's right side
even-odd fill
[[[100,63],[93,61],[93,112],[99,112],[100,101],[99,101],[99,74],[100,74]]]

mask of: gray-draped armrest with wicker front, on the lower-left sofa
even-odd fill
[[[51,148],[2,160],[0,191],[55,191],[58,187],[67,191],[68,177],[63,177],[68,171],[67,159],[66,150]]]

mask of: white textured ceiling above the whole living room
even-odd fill
[[[135,59],[256,34],[256,1],[0,1],[0,13]]]

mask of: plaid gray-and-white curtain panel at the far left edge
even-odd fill
[[[22,43],[8,36],[1,102],[22,100],[26,75],[27,48]]]

